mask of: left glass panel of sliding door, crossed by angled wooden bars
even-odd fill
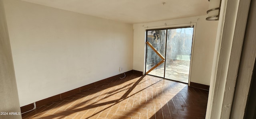
[[[166,29],[147,31],[146,74],[164,77]]]

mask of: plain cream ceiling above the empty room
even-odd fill
[[[22,1],[132,24],[202,16],[209,6],[208,0]]]

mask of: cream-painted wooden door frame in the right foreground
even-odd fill
[[[236,84],[239,84],[236,80],[249,5],[250,0],[222,0],[206,119],[232,118],[230,113]]]

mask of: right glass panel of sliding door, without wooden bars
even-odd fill
[[[165,78],[188,83],[193,27],[168,29]]]

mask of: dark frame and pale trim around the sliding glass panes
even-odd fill
[[[168,36],[167,31],[168,31],[168,29],[178,29],[178,28],[188,28],[188,27],[193,27],[191,59],[190,59],[190,67],[189,67],[189,74],[188,74],[188,83],[185,83],[185,84],[188,84],[188,86],[190,86],[190,80],[191,80],[191,74],[192,74],[191,73],[192,72],[192,62],[193,62],[193,54],[194,54],[194,44],[195,44],[194,40],[195,40],[195,37],[196,37],[196,35],[195,35],[196,34],[196,23],[170,25],[170,27],[165,27],[165,28],[156,27],[154,29],[146,29],[146,37],[145,37],[146,40],[145,41],[146,42],[148,41],[148,39],[147,39],[148,31],[151,31],[151,30],[166,30],[166,46],[167,46],[167,36]],[[147,63],[147,48],[148,48],[148,45],[146,45],[146,53],[145,53],[145,74],[146,74],[146,63]],[[166,57],[166,51],[165,51],[164,57]],[[164,61],[164,77],[161,77],[161,78],[168,79],[168,78],[165,78],[165,67],[166,67],[166,61]],[[150,74],[148,74],[148,75],[150,75]],[[159,76],[157,76],[157,77],[159,77]],[[171,79],[168,79],[168,80],[171,80]],[[173,81],[176,81],[176,80],[173,80]],[[179,82],[179,81],[176,81],[176,82]],[[184,82],[181,82],[181,83],[184,83]]]

